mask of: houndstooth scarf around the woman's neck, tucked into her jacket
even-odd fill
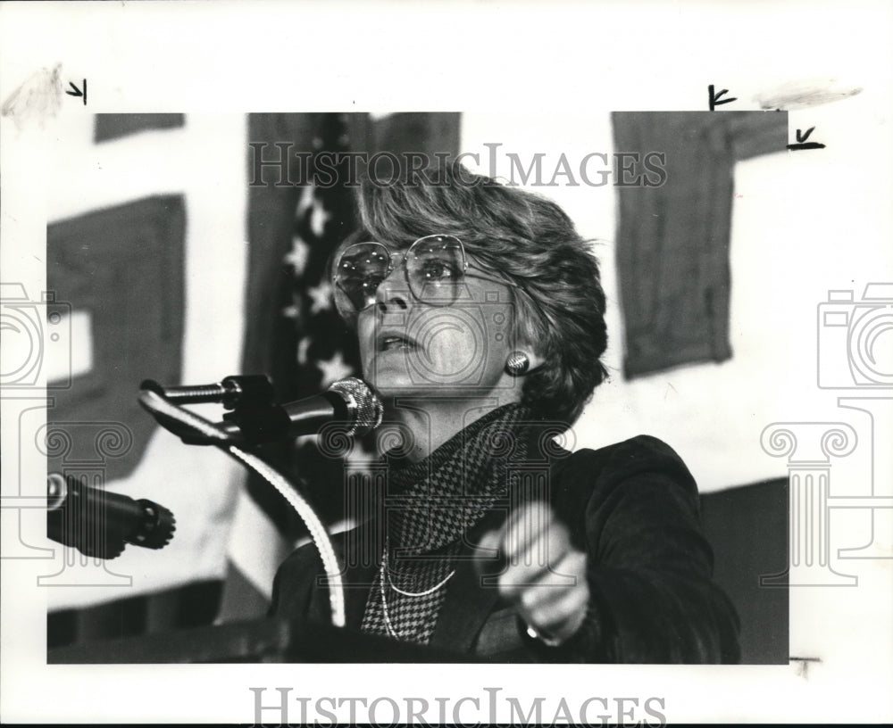
[[[416,463],[388,458],[384,553],[363,632],[427,644],[462,536],[504,498],[508,465],[527,459],[530,411],[494,409]]]

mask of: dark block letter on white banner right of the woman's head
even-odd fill
[[[664,154],[666,170],[663,184],[618,186],[624,374],[728,360],[734,165],[783,152],[788,114],[614,112],[612,120],[616,153]]]

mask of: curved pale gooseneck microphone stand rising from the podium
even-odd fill
[[[266,377],[262,378],[265,379]],[[184,393],[184,396],[179,397],[179,400],[183,402],[222,400],[224,406],[228,409],[236,409],[238,401],[243,394],[242,388],[239,387],[239,382],[241,381],[244,381],[242,377],[227,377],[227,379],[221,382],[221,385],[198,388],[207,389],[207,392],[198,393],[192,397],[185,396]],[[254,378],[252,378],[252,381],[254,381]],[[255,384],[257,384],[256,381]],[[269,382],[267,384],[269,385]],[[214,387],[217,387],[217,389],[213,390]],[[246,389],[254,390],[262,398],[266,396],[266,390],[263,385],[259,385],[257,389],[253,387],[247,387]],[[182,390],[180,391],[182,392]],[[194,389],[193,392],[195,391]],[[332,624],[337,627],[345,626],[344,583],[341,579],[341,568],[338,565],[338,558],[335,556],[335,549],[332,546],[325,525],[322,524],[313,507],[278,470],[264,462],[263,459],[258,458],[254,453],[242,450],[236,443],[236,433],[230,429],[230,426],[215,425],[213,422],[196,415],[195,412],[191,412],[175,403],[172,401],[174,399],[178,399],[176,394],[169,395],[161,385],[157,385],[151,380],[146,380],[140,385],[139,404],[148,410],[161,426],[173,434],[177,434],[186,443],[213,444],[217,446],[230,455],[231,458],[238,460],[242,465],[253,470],[258,476],[261,476],[267,483],[271,484],[285,498],[288,505],[295,509],[297,515],[301,517],[301,520],[307,526],[307,530],[313,539],[313,544],[316,546],[316,550],[319,551],[322,559],[322,567],[325,569],[329,584]]]

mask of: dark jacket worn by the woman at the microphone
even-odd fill
[[[588,556],[591,596],[580,631],[557,648],[531,639],[497,589],[480,586],[480,563],[460,560],[430,647],[505,662],[738,662],[738,616],[711,579],[697,486],[679,456],[647,436],[564,456],[549,465],[548,497]],[[467,541],[505,517],[505,509],[490,511]],[[374,527],[338,534],[339,557],[348,544],[369,542],[364,533]],[[346,569],[348,629],[360,628],[377,567]],[[328,622],[328,592],[316,586],[321,573],[312,544],[296,550],[276,575],[271,614]]]

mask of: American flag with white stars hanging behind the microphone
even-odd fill
[[[347,129],[344,114],[320,114],[315,120],[314,155],[310,169],[301,170],[306,184],[296,191],[290,245],[281,258],[278,277],[271,283],[276,287],[276,301],[265,373],[271,376],[279,402],[321,393],[332,382],[360,371],[355,337],[335,310],[326,276],[331,252],[356,225],[354,190],[343,184],[346,163],[338,166],[336,184],[313,184],[316,154],[348,151],[351,140]],[[294,177],[298,177],[297,172]],[[357,445],[358,451],[371,454],[368,443]],[[266,446],[263,455],[296,484],[324,522],[338,527],[345,520],[344,489],[340,487],[343,463],[321,453],[315,436]],[[247,492],[250,498],[242,497],[233,525],[227,588],[244,577],[260,592],[261,599],[247,600],[254,601],[256,611],[269,597],[272,575],[281,558],[306,531],[292,509],[267,484],[249,478]],[[244,585],[237,591],[244,594]],[[227,612],[235,607],[232,599],[224,595],[221,621],[227,621]],[[244,606],[235,608],[238,616],[251,616],[245,614]]]

